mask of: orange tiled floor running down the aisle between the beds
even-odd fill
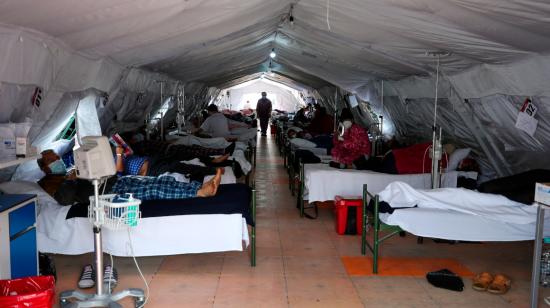
[[[382,246],[382,257],[456,258],[473,272],[506,273],[512,289],[502,296],[476,292],[468,279],[463,292],[452,292],[424,278],[347,275],[340,256],[360,255],[359,237],[337,235],[328,208],[316,220],[299,217],[273,139],[260,139],[257,155],[257,267],[250,267],[246,251],[138,258],[150,285],[147,307],[528,306],[532,244],[526,242],[418,245],[408,235]],[[60,292],[76,287],[80,267],[92,255],[54,259]],[[143,288],[132,259],[115,258],[115,264],[117,289]],[[132,307],[129,300],[121,303]]]

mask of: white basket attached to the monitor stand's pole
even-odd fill
[[[94,225],[100,225],[107,229],[119,230],[135,227],[141,220],[139,205],[141,200],[132,199],[126,202],[112,202],[115,194],[100,195],[99,207],[95,207],[95,198],[90,197],[88,218]]]

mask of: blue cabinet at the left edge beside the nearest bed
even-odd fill
[[[35,195],[0,195],[0,279],[38,275],[35,223]]]

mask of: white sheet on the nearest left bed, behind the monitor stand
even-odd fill
[[[0,185],[7,193],[38,196],[36,220],[38,250],[58,254],[94,251],[92,225],[87,218],[65,219],[68,206],[60,206],[34,182]],[[116,256],[130,256],[127,231],[103,228],[103,248]],[[179,215],[144,218],[130,229],[135,256],[156,256],[216,251],[242,251],[248,246],[246,220],[241,214]]]

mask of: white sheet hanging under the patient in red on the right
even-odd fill
[[[456,187],[459,175],[477,177],[475,172],[450,171],[442,176],[442,187]],[[304,200],[309,202],[334,200],[340,196],[362,196],[363,184],[369,192],[377,194],[394,181],[401,181],[413,188],[430,188],[431,175],[386,174],[369,170],[336,169],[327,164],[304,165]]]

